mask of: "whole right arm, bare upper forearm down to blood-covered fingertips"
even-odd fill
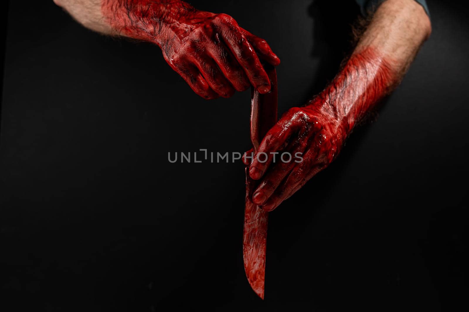
[[[325,169],[354,126],[401,81],[430,32],[430,20],[414,0],[386,0],[378,7],[333,81],[306,105],[287,111],[262,140],[250,163],[250,177],[260,179],[253,201],[271,211]],[[266,161],[260,161],[262,153]],[[275,163],[275,153],[303,157]]]

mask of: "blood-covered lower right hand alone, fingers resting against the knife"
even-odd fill
[[[263,177],[253,192],[253,201],[265,210],[276,208],[337,156],[344,130],[338,119],[321,112],[321,105],[318,100],[303,108],[291,108],[259,146],[250,166],[250,176]],[[261,152],[268,157],[259,155]],[[276,163],[272,163],[274,156]]]

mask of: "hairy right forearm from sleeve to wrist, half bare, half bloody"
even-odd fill
[[[343,69],[305,109],[327,116],[325,126],[347,136],[401,81],[430,32],[430,20],[414,0],[385,1]]]

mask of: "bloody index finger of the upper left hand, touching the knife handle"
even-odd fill
[[[262,94],[269,92],[269,77],[254,52],[254,48],[242,34],[238,23],[229,15],[219,14],[216,25],[224,42],[246,72],[254,88]]]

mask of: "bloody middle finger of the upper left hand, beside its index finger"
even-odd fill
[[[227,77],[236,91],[247,90],[251,83],[234,58],[230,49],[220,41],[219,34],[215,35],[215,43],[212,49],[207,49],[207,53],[215,60],[221,72]]]

